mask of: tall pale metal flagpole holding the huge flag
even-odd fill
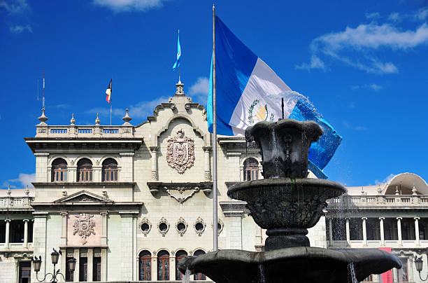
[[[217,251],[217,105],[215,99],[215,6],[213,4],[213,250]]]

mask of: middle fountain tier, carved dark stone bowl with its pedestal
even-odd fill
[[[324,179],[262,179],[231,186],[229,197],[247,202],[246,207],[258,226],[267,229],[265,250],[308,247],[308,228],[323,215],[329,198],[346,188]]]

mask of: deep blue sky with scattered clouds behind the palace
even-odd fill
[[[34,178],[45,69],[50,125],[141,123],[175,92],[206,104],[212,4],[205,0],[0,0],[0,187]],[[217,15],[343,136],[324,169],[348,186],[413,172],[428,180],[428,2],[215,1]]]

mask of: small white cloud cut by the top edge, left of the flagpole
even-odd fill
[[[98,6],[110,8],[115,13],[125,11],[148,11],[163,5],[167,0],[93,0]]]

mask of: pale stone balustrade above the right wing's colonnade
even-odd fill
[[[329,207],[428,207],[428,195],[342,195],[327,200]]]

